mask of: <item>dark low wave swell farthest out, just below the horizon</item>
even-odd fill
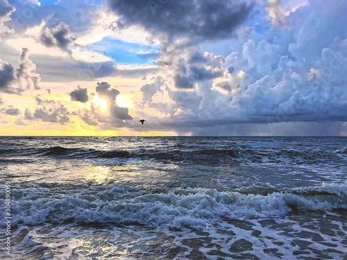
[[[341,159],[347,153],[347,148],[339,150],[322,150],[319,148],[303,148],[296,150],[292,148],[269,148],[250,149],[247,147],[221,148],[182,148],[171,147],[167,149],[144,149],[137,148],[126,150],[124,148],[114,150],[98,150],[94,148],[66,148],[53,146],[48,148],[21,148],[0,149],[3,157],[25,156],[30,157],[54,157],[55,159],[155,159],[161,162],[198,162],[210,164],[214,162],[293,162],[301,164],[305,162],[316,162],[317,160]]]

